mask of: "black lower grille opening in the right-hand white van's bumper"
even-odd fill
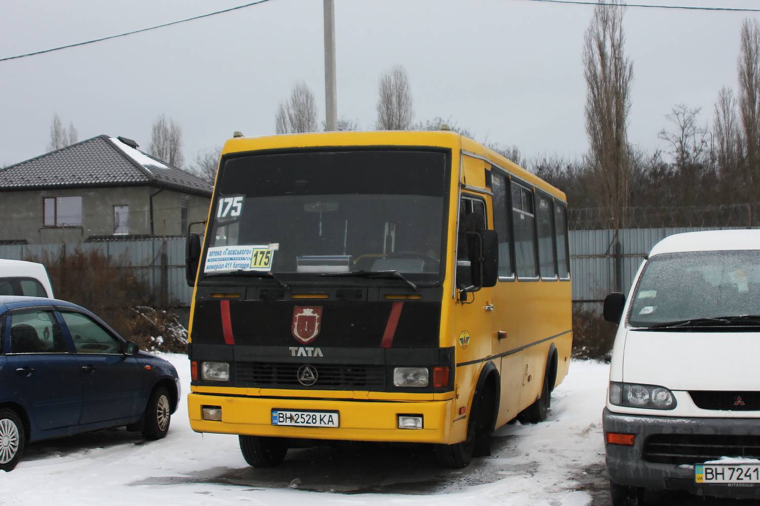
[[[699,464],[720,457],[760,458],[760,435],[654,434],[644,442],[644,460]]]

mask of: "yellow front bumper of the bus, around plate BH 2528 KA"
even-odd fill
[[[280,438],[452,444],[464,440],[467,416],[454,420],[452,401],[345,401],[188,394],[190,426],[195,432],[264,435]],[[203,420],[203,407],[221,407],[222,420]],[[272,410],[328,410],[340,413],[340,426],[272,425]],[[400,414],[423,416],[423,429],[399,429]]]

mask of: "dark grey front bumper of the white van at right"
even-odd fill
[[[610,479],[620,485],[648,489],[685,490],[697,495],[716,497],[760,496],[760,485],[730,487],[701,485],[695,482],[693,465],[660,464],[644,460],[644,442],[654,434],[760,435],[758,418],[676,418],[670,416],[635,416],[602,413],[606,462]],[[634,445],[610,445],[607,432],[635,434]],[[736,455],[733,455],[734,457]],[[705,457],[715,460],[717,457]]]

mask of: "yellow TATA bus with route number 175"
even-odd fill
[[[228,140],[188,231],[192,429],[255,467],[305,442],[489,454],[568,371],[566,209],[450,130]]]

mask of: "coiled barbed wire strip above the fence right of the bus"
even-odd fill
[[[760,203],[724,206],[625,207],[621,211],[619,228],[751,228],[760,225]],[[568,209],[568,227],[570,230],[617,228],[615,209],[611,207]]]

